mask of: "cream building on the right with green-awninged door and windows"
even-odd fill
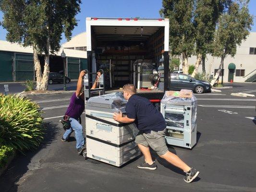
[[[196,56],[189,58],[189,64],[195,65]],[[220,64],[220,58],[213,58],[207,55],[206,73],[214,75]],[[236,49],[234,57],[227,56],[223,64],[224,82],[256,82],[256,32],[250,35]],[[199,66],[199,72],[202,72],[202,65]],[[219,81],[222,74],[220,74]]]

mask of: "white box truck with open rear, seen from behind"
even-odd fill
[[[86,39],[88,70],[104,70],[106,93],[134,84],[138,95],[158,103],[170,89],[169,19],[88,17]],[[152,66],[159,74],[157,90],[143,87],[144,69],[152,72]]]

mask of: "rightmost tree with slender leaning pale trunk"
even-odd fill
[[[225,58],[228,55],[234,57],[237,46],[240,46],[249,35],[253,16],[249,13],[248,3],[249,0],[233,0],[227,11],[219,17],[213,43],[213,56],[220,57],[221,60],[211,85],[219,77]]]

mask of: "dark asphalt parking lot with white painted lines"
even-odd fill
[[[153,171],[136,168],[142,156],[121,168],[77,156],[74,135],[70,142],[61,142],[59,122],[72,93],[31,96],[44,112],[45,140],[37,151],[16,156],[0,177],[1,192],[256,192],[256,97],[230,95],[256,91],[256,84],[233,86],[196,95],[197,144],[192,150],[169,145],[200,171],[192,183],[185,183],[183,171],[156,153],[158,169]]]

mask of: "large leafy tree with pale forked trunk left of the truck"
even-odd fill
[[[47,90],[49,55],[60,50],[62,33],[67,40],[71,38],[80,3],[81,0],[0,0],[6,39],[33,47],[37,90]],[[38,54],[45,55],[43,73]]]

